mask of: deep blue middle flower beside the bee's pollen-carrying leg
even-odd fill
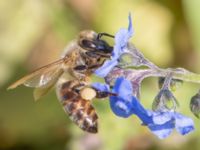
[[[92,87],[99,91],[110,92],[107,84],[93,83]],[[112,93],[117,96],[110,96],[110,107],[119,117],[127,118],[132,114],[146,114],[146,110],[136,97],[132,95],[132,84],[124,77],[117,78]]]

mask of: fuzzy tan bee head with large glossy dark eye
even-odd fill
[[[84,30],[79,34],[79,45],[88,51],[92,51],[98,55],[109,57],[113,51],[105,40],[101,39],[101,35],[92,30]]]

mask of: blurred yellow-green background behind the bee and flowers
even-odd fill
[[[145,150],[200,149],[200,127],[189,111],[199,85],[184,83],[175,92],[179,111],[192,117],[196,131],[175,132],[159,140],[135,116],[116,117],[108,101],[94,101],[99,133],[83,133],[65,115],[55,92],[37,103],[31,88],[7,91],[13,81],[59,58],[82,29],[115,34],[132,13],[132,42],[160,67],[200,73],[199,0],[1,0],[0,1],[0,149]],[[142,84],[142,103],[151,108],[157,80]]]

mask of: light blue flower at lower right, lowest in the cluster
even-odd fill
[[[175,128],[179,134],[185,135],[194,130],[194,122],[191,118],[180,113],[166,112],[149,112],[152,122],[148,123],[149,129],[159,138],[166,138]]]

